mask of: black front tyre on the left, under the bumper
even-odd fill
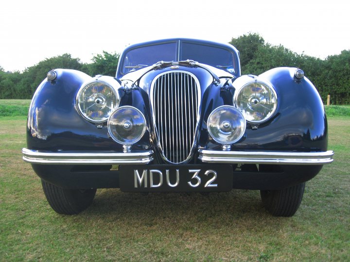
[[[41,180],[50,206],[59,214],[78,214],[92,203],[96,189],[64,189]]]

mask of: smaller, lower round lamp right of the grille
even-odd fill
[[[218,143],[230,145],[242,138],[245,132],[245,118],[233,106],[220,106],[208,117],[208,131]]]

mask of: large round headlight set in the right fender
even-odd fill
[[[248,82],[236,91],[233,104],[248,122],[261,123],[275,113],[277,95],[275,90],[265,82]]]

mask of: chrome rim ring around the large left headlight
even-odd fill
[[[116,98],[117,102],[116,102],[116,105],[113,107],[113,110],[111,110],[111,113],[104,117],[103,119],[101,120],[96,120],[96,119],[93,119],[93,118],[90,118],[88,117],[88,115],[84,114],[83,113],[83,109],[80,107],[80,102],[79,102],[79,98],[80,98],[80,95],[81,95],[81,92],[84,90],[84,88],[86,88],[88,85],[92,84],[92,83],[102,83],[102,84],[105,84],[112,92],[113,92],[113,95],[114,97]],[[110,115],[112,115],[112,113],[119,107],[119,104],[120,104],[120,97],[119,97],[119,93],[117,91],[117,88],[115,88],[113,86],[113,84],[111,84],[110,82],[108,81],[105,81],[105,80],[100,80],[100,79],[94,79],[94,80],[91,80],[91,81],[88,81],[88,82],[84,82],[81,87],[79,88],[78,90],[78,93],[76,95],[76,98],[75,98],[75,105],[76,105],[76,109],[77,111],[79,112],[79,114],[81,116],[83,116],[85,119],[87,119],[89,122],[93,122],[93,123],[96,123],[96,124],[101,124],[101,123],[105,123],[108,121],[108,118]]]

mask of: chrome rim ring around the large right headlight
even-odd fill
[[[247,77],[249,77],[249,76],[247,76]],[[249,77],[249,78],[250,78],[250,77]],[[251,78],[250,78],[250,79],[251,79]],[[249,80],[250,80],[250,79],[249,79]],[[245,87],[247,87],[247,86],[249,86],[249,85],[251,85],[251,84],[261,84],[261,85],[267,87],[267,88],[272,92],[272,94],[273,94],[273,96],[274,96],[274,98],[275,98],[275,103],[274,103],[274,106],[273,106],[273,108],[272,108],[270,114],[269,114],[267,117],[263,118],[262,120],[249,120],[249,119],[247,119],[245,113],[242,112],[242,109],[240,108],[239,103],[238,103],[238,101],[237,101],[237,98],[238,98],[238,96],[240,95],[240,93],[242,92],[242,90],[243,90]],[[271,83],[269,83],[269,82],[267,82],[267,81],[258,80],[258,79],[255,78],[255,80],[253,80],[253,81],[250,80],[250,81],[248,81],[248,82],[245,82],[241,87],[236,88],[236,92],[234,93],[234,96],[233,96],[233,105],[234,105],[238,110],[240,110],[241,113],[245,116],[245,119],[246,119],[247,123],[249,123],[249,124],[262,124],[262,123],[264,123],[264,122],[270,120],[271,117],[273,117],[273,116],[276,114],[277,107],[278,107],[278,96],[277,96],[277,92],[276,92],[275,88],[272,86]]]

